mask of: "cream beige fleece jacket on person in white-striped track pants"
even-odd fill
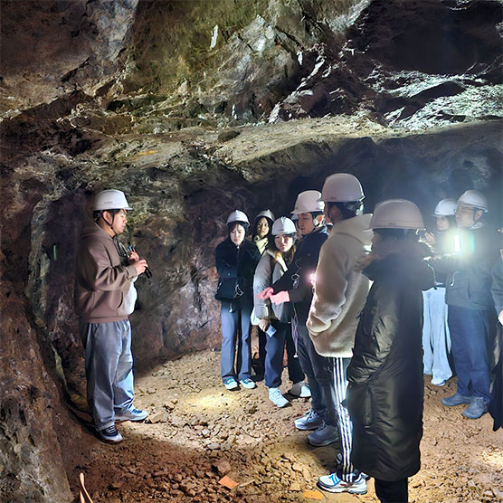
[[[372,231],[366,231],[371,216],[357,215],[337,222],[321,247],[307,323],[321,356],[353,356],[358,315],[370,287],[356,264],[372,240]]]

